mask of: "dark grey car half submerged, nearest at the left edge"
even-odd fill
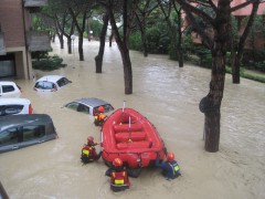
[[[0,117],[0,153],[20,149],[57,138],[52,118],[46,114]]]

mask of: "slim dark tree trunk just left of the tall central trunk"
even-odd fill
[[[108,25],[108,15],[104,14],[104,17],[103,17],[103,28],[102,28],[100,38],[99,38],[100,45],[99,45],[98,54],[95,56],[96,73],[102,73],[107,25]]]

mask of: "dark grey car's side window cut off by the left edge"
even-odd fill
[[[13,145],[19,142],[19,129],[9,128],[0,133],[0,146]]]

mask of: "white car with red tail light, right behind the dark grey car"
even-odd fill
[[[0,116],[32,113],[33,108],[28,98],[0,98]]]

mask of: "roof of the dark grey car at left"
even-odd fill
[[[12,126],[23,124],[43,124],[52,123],[52,118],[46,114],[31,114],[31,115],[8,115],[0,117],[0,132]]]

